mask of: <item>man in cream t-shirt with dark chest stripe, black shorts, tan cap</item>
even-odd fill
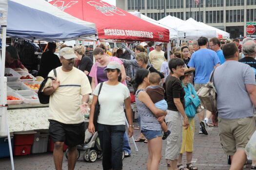
[[[54,142],[56,170],[62,169],[63,145],[68,146],[68,169],[74,170],[77,160],[77,145],[84,143],[84,118],[89,94],[92,92],[87,76],[74,67],[74,50],[69,47],[59,51],[62,66],[56,68],[56,80],[48,79],[43,88],[49,101],[49,133]],[[55,77],[50,71],[49,77]],[[82,100],[80,101],[80,95]]]

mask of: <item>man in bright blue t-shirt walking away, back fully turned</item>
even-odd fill
[[[209,82],[211,72],[214,68],[219,66],[219,59],[215,51],[207,49],[208,39],[201,36],[197,43],[200,47],[200,50],[194,52],[191,56],[191,59],[188,63],[190,68],[196,69],[195,74],[195,90],[199,90],[202,86]],[[211,118],[212,113],[206,110],[206,116],[204,118],[204,111],[198,113],[198,118],[200,121],[200,130],[199,134],[208,135],[207,132],[207,123]]]

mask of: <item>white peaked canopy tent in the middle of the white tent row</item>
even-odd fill
[[[158,22],[176,29],[180,40],[194,40],[200,36],[205,36],[207,38],[216,37],[216,30],[206,29],[199,24],[187,22],[177,17],[167,16],[160,19]]]

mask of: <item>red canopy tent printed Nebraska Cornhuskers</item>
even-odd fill
[[[169,42],[169,30],[102,0],[54,0],[64,12],[96,24],[99,39]]]

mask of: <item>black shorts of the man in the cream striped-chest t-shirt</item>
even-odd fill
[[[49,133],[53,142],[64,142],[67,146],[84,143],[84,122],[79,124],[64,124],[49,120]]]

